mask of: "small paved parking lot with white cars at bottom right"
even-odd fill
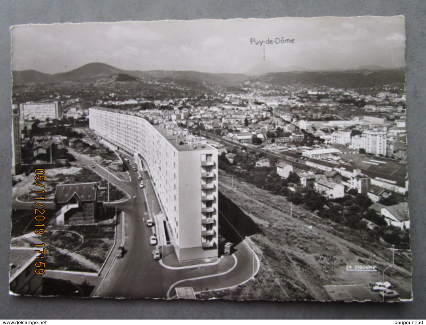
[[[372,291],[368,285],[325,285],[331,300],[340,301],[383,301],[378,292]]]

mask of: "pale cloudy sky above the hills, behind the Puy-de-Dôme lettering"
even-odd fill
[[[272,43],[265,44],[268,39]],[[276,44],[277,39],[294,42]],[[404,56],[405,22],[401,16],[12,27],[12,70],[51,74],[92,62],[124,70],[213,73],[245,73],[259,65],[311,70],[396,68],[405,66]]]

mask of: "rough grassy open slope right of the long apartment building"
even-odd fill
[[[259,228],[248,236],[261,268],[253,281],[230,290],[203,293],[201,298],[331,300],[323,286],[381,281],[382,270],[391,264],[391,251],[370,241],[362,230],[321,219],[301,206],[290,207],[284,197],[241,182],[235,176],[232,188],[231,175],[223,171],[219,183],[222,194]],[[232,210],[227,211],[223,199],[219,200],[219,210],[225,216],[233,214]],[[240,229],[238,222],[236,228]],[[405,268],[389,268],[385,280],[395,286],[402,298],[410,299],[411,255],[398,252],[395,259],[404,261],[401,265]],[[349,272],[348,265],[374,265],[379,271]]]

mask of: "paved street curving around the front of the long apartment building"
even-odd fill
[[[100,145],[91,135],[89,137]],[[78,166],[94,164],[89,157],[79,155],[72,149],[69,151],[75,155]],[[127,158],[131,159],[129,156]],[[107,207],[117,207],[123,211],[124,216],[122,214],[118,218],[117,241],[99,276],[82,277],[78,273],[47,272],[46,277],[70,280],[76,285],[81,285],[86,279],[94,286],[92,296],[173,298],[176,295],[176,286],[193,286],[195,292],[230,288],[248,281],[253,276],[253,270],[257,273],[259,269],[257,256],[253,256],[246,242],[236,246],[234,256],[224,256],[215,265],[173,270],[161,266],[152,258],[155,246],[149,242],[149,237],[155,232],[156,227],[150,228],[144,223],[144,219],[146,221],[161,211],[153,184],[146,171],[135,172],[127,161],[123,159],[123,162],[129,171],[130,181],[116,178],[98,164],[94,164],[93,168],[95,173],[109,179],[111,184],[130,196],[120,202],[104,203]],[[139,175],[143,176],[144,189],[139,188],[141,182],[138,180]],[[32,209],[33,206],[32,202],[19,202],[14,198],[12,201],[12,207],[15,209]],[[53,208],[52,203],[46,206]],[[122,242],[126,252],[123,258],[116,259],[117,248]],[[168,251],[170,249],[173,251],[173,246],[167,247]],[[203,263],[204,261],[200,262]]]

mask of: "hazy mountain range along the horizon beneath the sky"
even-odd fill
[[[404,83],[404,69],[385,69],[378,66],[360,67],[357,70],[313,71],[302,67],[280,67],[273,63],[260,63],[246,74],[208,73],[197,71],[138,71],[123,70],[105,63],[89,63],[68,72],[46,74],[35,70],[13,71],[14,85],[26,83],[89,83],[110,76],[120,76],[116,81],[135,82],[144,78],[189,81],[204,86],[236,86],[246,81],[272,85],[295,84],[331,87],[371,87],[390,83]],[[126,77],[126,75],[128,77]]]

